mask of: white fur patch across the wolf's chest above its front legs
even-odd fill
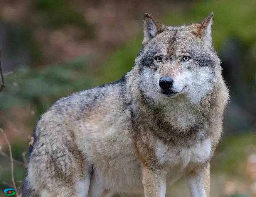
[[[170,146],[160,140],[156,143],[156,157],[160,165],[186,167],[189,162],[200,164],[209,159],[210,153],[211,142],[209,138],[190,147]]]

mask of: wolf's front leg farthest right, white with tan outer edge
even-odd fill
[[[188,167],[186,180],[192,197],[209,197],[210,163]]]

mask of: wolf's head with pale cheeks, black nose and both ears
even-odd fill
[[[135,68],[139,88],[147,97],[197,102],[222,80],[211,38],[212,17],[210,13],[200,23],[166,26],[144,15],[143,47]]]

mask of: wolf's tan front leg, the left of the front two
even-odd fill
[[[143,167],[142,179],[145,197],[165,197],[166,172],[160,169]]]

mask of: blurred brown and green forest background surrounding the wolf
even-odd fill
[[[143,14],[180,25],[213,16],[213,41],[231,100],[211,162],[211,196],[256,196],[255,0],[1,0],[0,45],[6,88],[0,128],[11,143],[16,186],[25,177],[28,141],[40,115],[72,92],[119,79],[141,48]],[[0,194],[12,188],[0,133]],[[166,196],[189,196],[185,181]]]

